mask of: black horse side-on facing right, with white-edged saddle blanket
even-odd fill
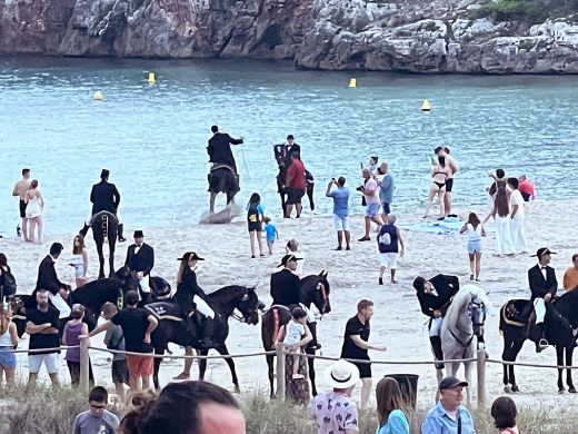
[[[229,349],[225,341],[229,335],[229,317],[233,316],[236,319],[256,325],[259,323],[258,310],[263,307],[259,302],[255,288],[245,286],[226,286],[207,296],[207,303],[215,312],[216,335],[212,341],[219,343],[215,346],[221,355],[229,355]],[[180,306],[171,302],[151,303],[144,306],[158,319],[159,325],[152,333],[151,342],[156,354],[165,354],[168,349],[169,342],[181,346],[190,346],[196,348],[201,356],[206,356],[210,348],[203,347],[199,344],[200,337],[197,333],[197,327],[192,318],[183,320],[180,317]],[[233,310],[238,309],[241,316],[233,315]],[[159,368],[162,359],[155,358],[155,373],[152,379],[155,387],[159,388]],[[235,369],[232,358],[226,358],[225,362],[231,369],[232,383],[235,389],[239,392],[239,379]],[[207,359],[199,361],[199,379],[203,379],[207,371]]]

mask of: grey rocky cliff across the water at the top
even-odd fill
[[[298,67],[577,73],[578,24],[489,0],[0,0],[0,52],[292,59]]]

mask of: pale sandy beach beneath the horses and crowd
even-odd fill
[[[323,200],[323,199],[321,199]],[[329,199],[328,199],[329,200]],[[399,225],[412,224],[420,220],[422,210],[401,210],[392,206]],[[552,257],[551,266],[556,268],[559,287],[564,272],[570,264],[570,257],[577,253],[576,239],[578,226],[574,223],[578,214],[578,201],[536,201],[528,204],[526,231],[532,253],[539,247],[549,247],[558,253]],[[467,213],[476,211],[486,215],[485,207],[476,209],[461,208],[457,214],[461,218]],[[469,283],[469,267],[466,254],[465,236],[444,236],[402,230],[406,241],[406,255],[398,262],[398,284],[379,286],[378,257],[375,234],[370,243],[358,243],[362,235],[362,216],[351,217],[352,249],[350,251],[335,251],[336,237],[329,216],[309,217],[303,214],[301,219],[281,221],[273,218],[278,225],[280,240],[275,245],[275,254],[261,259],[251,259],[249,239],[245,221],[222,226],[177,224],[171,227],[134,228],[126,221],[126,235],[131,236],[133,229],[142,229],[146,243],[155,247],[156,265],[153,275],[169,280],[173,288],[178,269],[177,258],[187,250],[195,250],[206,258],[198,269],[199,284],[207,292],[219,287],[239,284],[256,286],[259,297],[270,304],[269,278],[276,270],[276,265],[283,255],[283,246],[290,238],[300,243],[306,259],[305,274],[318,274],[328,270],[331,284],[332,312],[326,315],[318,325],[319,339],[322,343],[321,354],[338,356],[341,349],[342,334],[346,320],[356,314],[356,304],[360,298],[375,302],[375,316],[371,320],[371,338],[375,343],[387,345],[385,353],[371,353],[375,361],[429,361],[432,358],[426,317],[419,309],[411,282],[417,275],[432,277],[438,273],[454,274],[460,277],[462,284]],[[64,282],[73,284],[73,268],[68,265],[71,256],[71,244],[74,234],[49,235],[43,245],[24,244],[20,238],[0,240],[0,251],[6,253],[9,265],[17,278],[19,293],[30,293],[36,284],[38,264],[48,254],[52,241],[64,245],[62,258],[57,263],[57,270]],[[129,237],[130,238],[130,237]],[[494,234],[484,239],[484,255],[481,265],[480,286],[489,292],[494,303],[486,323],[486,343],[491,358],[500,358],[502,339],[498,332],[499,307],[509,298],[529,298],[527,269],[535,265],[530,255],[518,255],[514,258],[496,257],[494,253]],[[94,243],[88,240],[89,274],[94,278],[98,274],[98,257]],[[124,260],[129,243],[117,245],[116,264],[121,266]],[[386,275],[386,277],[389,277]],[[389,278],[385,279],[386,282]],[[559,289],[559,295],[561,290]],[[232,354],[252,353],[262,351],[260,343],[260,325],[248,326],[230,320],[231,333],[228,338],[229,351]],[[92,339],[92,345],[102,346],[102,336]],[[20,348],[28,347],[28,337],[24,337]],[[183,351],[172,347],[175,354]],[[111,385],[110,356],[107,353],[93,352],[92,363],[96,368],[97,381]],[[534,344],[527,343],[518,358],[520,362],[555,364],[556,354],[552,347],[536,354]],[[161,367],[161,383],[166,384],[181,369],[182,361],[166,361]],[[263,393],[268,395],[267,365],[265,356],[236,362],[241,389],[243,394]],[[318,362],[318,374],[322,373],[328,362]],[[27,375],[26,357],[19,362],[21,378]],[[64,381],[69,381],[66,363],[62,361],[60,371]],[[418,403],[423,406],[434,402],[436,379],[431,366],[392,366],[375,365],[373,378],[377,381],[385,374],[412,373],[419,374]],[[462,373],[462,372],[461,372]],[[193,367],[193,374],[197,368]],[[462,375],[462,374],[461,374]],[[209,363],[207,378],[226,387],[231,387],[227,365],[222,361]],[[475,383],[475,375],[474,375]],[[559,396],[556,387],[556,372],[554,369],[524,368],[517,369],[517,379],[521,393],[517,395],[520,404],[536,405],[578,403],[578,396],[568,394]],[[322,375],[318,375],[318,389],[326,388]],[[502,393],[501,366],[488,365],[487,374],[488,396],[490,400]],[[359,398],[359,388],[357,398]],[[472,387],[474,396],[476,387]]]

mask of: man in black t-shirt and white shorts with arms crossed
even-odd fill
[[[27,309],[26,333],[30,335],[29,349],[47,349],[46,352],[32,352],[28,355],[28,385],[31,386],[38,378],[38,372],[42,362],[47,366],[48,375],[53,386],[59,385],[58,366],[60,354],[59,312],[49,304],[48,290],[38,289],[36,293],[37,306]],[[54,349],[57,348],[57,349]]]

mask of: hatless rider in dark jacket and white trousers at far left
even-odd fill
[[[53,243],[50,246],[50,254],[47,255],[38,267],[38,279],[36,289],[47,289],[48,298],[59,310],[59,318],[68,318],[70,316],[70,306],[67,303],[70,292],[70,285],[67,285],[57,276],[54,263],[63,250],[60,243]]]

